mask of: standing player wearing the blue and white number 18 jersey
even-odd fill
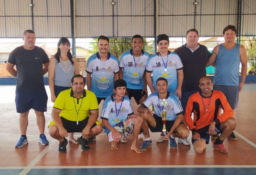
[[[166,34],[157,36],[157,46],[159,52],[150,56],[146,67],[146,80],[151,92],[156,92],[158,78],[162,77],[168,81],[168,92],[177,94],[181,98],[181,86],[183,81],[183,65],[180,57],[171,51],[168,51],[169,37]],[[151,79],[153,74],[153,82]],[[177,78],[178,75],[178,78]]]

